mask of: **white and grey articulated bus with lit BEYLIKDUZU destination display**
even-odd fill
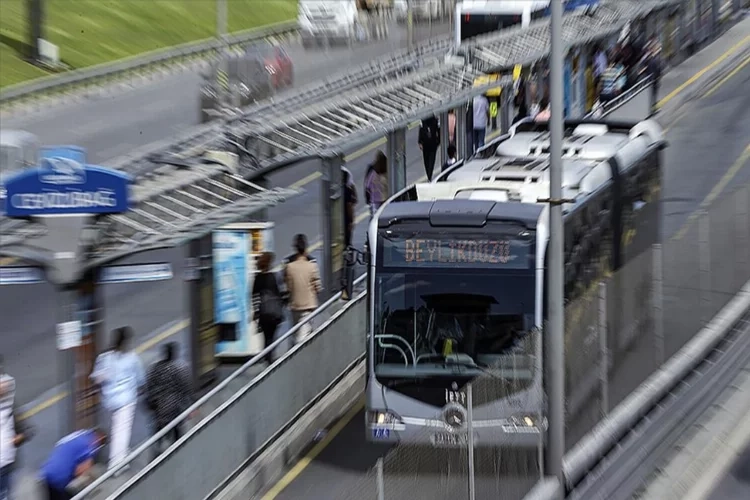
[[[545,436],[549,149],[524,123],[487,158],[389,199],[369,227],[366,432],[376,442],[533,448]],[[566,122],[566,304],[660,238],[656,122]],[[545,142],[546,141],[546,142]],[[654,197],[656,195],[656,197]],[[636,239],[626,234],[642,233]]]

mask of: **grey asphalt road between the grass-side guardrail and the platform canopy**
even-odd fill
[[[416,26],[418,41],[449,32],[445,23]],[[299,43],[290,44],[287,49],[294,63],[295,86],[304,86],[406,45],[405,28],[393,24],[387,40],[356,45],[353,50],[345,47],[305,50]],[[107,160],[198,124],[201,81],[199,71],[185,71],[145,87],[113,92],[112,96],[6,119],[2,127],[32,132],[43,144],[85,147],[92,163],[106,165]]]

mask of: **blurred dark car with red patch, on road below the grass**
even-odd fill
[[[211,65],[200,91],[201,121],[217,118],[225,106],[245,107],[294,83],[292,59],[280,45],[258,42]],[[223,102],[228,91],[231,101]]]

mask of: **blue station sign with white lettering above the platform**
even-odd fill
[[[5,181],[5,212],[8,217],[122,213],[128,210],[129,182],[122,172],[70,157],[42,158],[38,168]]]

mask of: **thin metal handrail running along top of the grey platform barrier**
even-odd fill
[[[354,285],[357,286],[360,283],[362,283],[367,277],[367,274],[362,274],[359,276],[356,280],[354,280]],[[309,316],[307,316],[305,319],[297,323],[296,325],[292,326],[285,334],[283,334],[281,337],[273,341],[270,345],[267,345],[261,352],[253,356],[249,361],[247,361],[244,365],[237,368],[234,372],[232,372],[229,377],[221,381],[216,387],[211,389],[208,393],[206,393],[203,397],[198,399],[195,403],[193,403],[190,408],[183,411],[177,418],[172,420],[169,424],[167,424],[166,427],[162,428],[159,432],[151,436],[149,439],[147,439],[145,442],[143,442],[141,445],[139,445],[135,450],[133,450],[127,457],[125,457],[125,460],[120,462],[115,467],[112,467],[111,469],[107,470],[106,473],[98,477],[94,482],[92,482],[89,486],[87,486],[83,491],[78,493],[74,500],[82,500],[86,497],[86,495],[90,495],[93,493],[99,486],[104,484],[106,481],[111,479],[113,476],[115,476],[119,471],[127,467],[130,463],[132,463],[136,458],[138,458],[140,455],[142,455],[145,452],[148,452],[148,450],[156,445],[163,437],[165,437],[169,432],[171,432],[173,429],[175,429],[178,425],[185,422],[190,415],[199,410],[203,405],[205,405],[211,398],[218,395],[223,389],[225,389],[233,380],[237,379],[239,376],[244,374],[248,369],[250,369],[252,366],[258,363],[258,361],[264,360],[266,356],[273,352],[274,349],[276,349],[279,345],[281,345],[282,342],[286,341],[290,337],[292,337],[294,334],[296,334],[300,328],[302,328],[304,325],[310,323],[315,317],[317,317],[319,314],[321,314],[323,311],[328,309],[330,306],[335,304],[339,299],[342,297],[342,292],[337,292],[335,295],[333,295],[331,298],[329,298],[327,301],[325,301],[323,304],[318,306],[315,311],[313,311]],[[206,418],[209,418],[211,415],[206,416]]]

